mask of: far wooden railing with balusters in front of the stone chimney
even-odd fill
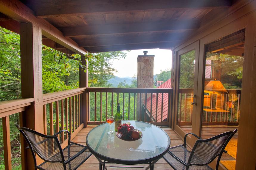
[[[122,118],[169,126],[170,101],[173,89],[87,88],[88,125],[106,122],[116,113],[120,103]],[[145,109],[146,108],[146,109]]]

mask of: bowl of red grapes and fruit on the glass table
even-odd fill
[[[117,128],[117,137],[125,141],[136,141],[142,138],[142,132],[131,124],[124,123]]]

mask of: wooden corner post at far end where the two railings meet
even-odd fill
[[[86,62],[85,56],[81,56],[82,64],[86,66],[86,70],[79,68],[79,86],[88,87],[88,62]],[[86,72],[85,72],[86,71]],[[81,94],[80,98],[80,124],[83,123],[84,127],[87,126],[89,118],[89,101],[87,90]]]

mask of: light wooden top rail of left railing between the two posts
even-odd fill
[[[43,94],[43,104],[55,102],[61,99],[65,99],[67,97],[78,95],[80,93],[83,93],[85,90],[86,90],[86,87],[80,87],[77,89]]]

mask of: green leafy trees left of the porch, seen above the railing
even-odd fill
[[[116,71],[111,61],[126,56],[125,52],[87,53],[89,85],[109,87],[108,79]],[[0,27],[0,101],[21,98],[20,36]],[[80,55],[66,55],[42,45],[42,85],[43,93],[58,92],[79,87],[79,67],[86,71]],[[99,101],[98,101],[99,102]],[[103,99],[104,103],[104,99]],[[100,106],[99,103],[97,103]],[[47,106],[48,107],[48,106]],[[47,108],[49,109],[49,108]],[[0,136],[2,136],[0,119]],[[49,115],[47,115],[49,120]],[[20,169],[19,132],[15,124],[19,123],[18,114],[10,116],[13,169]],[[47,123],[49,125],[49,122]],[[54,120],[54,125],[56,124]],[[3,141],[0,139],[0,169],[4,168]]]

